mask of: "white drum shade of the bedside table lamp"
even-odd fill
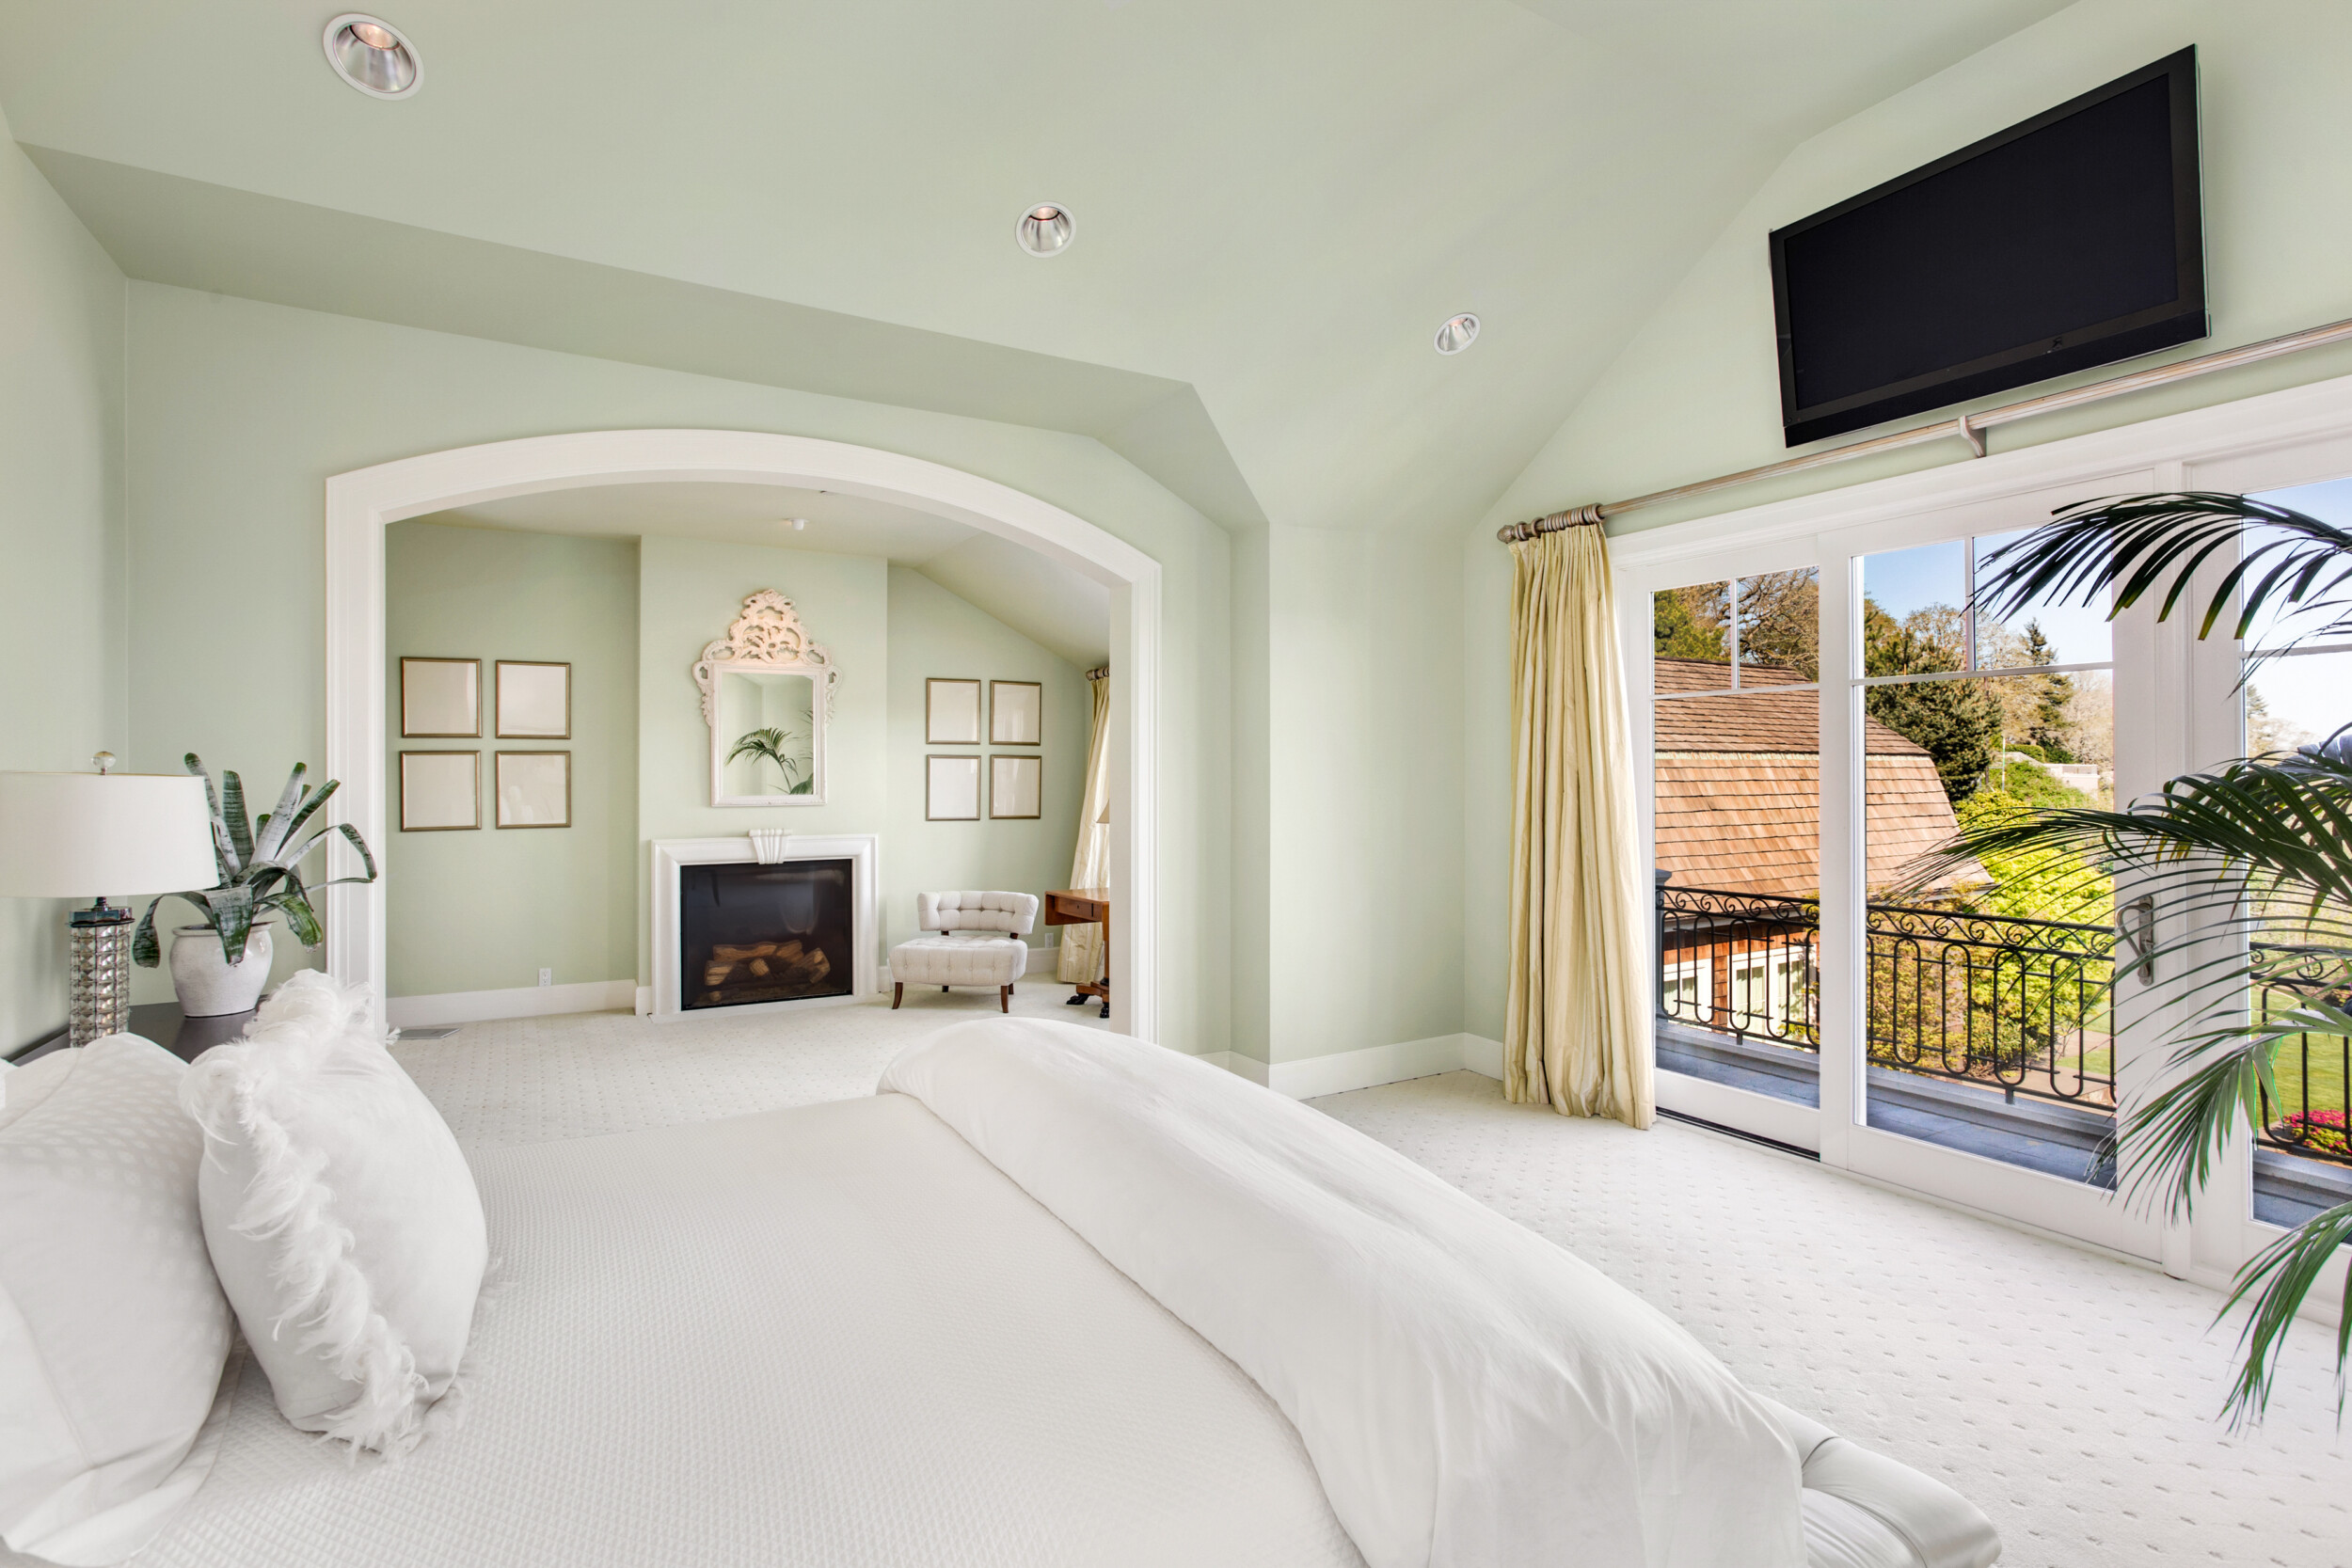
[[[219,879],[193,773],[0,773],[5,898],[139,898]]]

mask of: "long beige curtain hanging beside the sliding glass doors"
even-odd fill
[[[1510,581],[1510,1006],[1503,1093],[1571,1117],[1656,1112],[1649,856],[1599,527],[1519,541]]]

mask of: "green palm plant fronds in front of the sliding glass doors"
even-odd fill
[[[2244,637],[2265,607],[2300,621],[2300,635],[2352,632],[2352,534],[2246,496],[2192,491],[2063,508],[1990,555],[1985,578],[1978,609],[1992,616],[2103,595],[2112,595],[2112,616],[2161,590],[2159,621],[2201,602],[2199,637],[2218,625]],[[2249,668],[2277,651],[2256,649]],[[2173,778],[2119,809],[1971,820],[1929,865],[2032,853],[2114,872],[2133,933],[2117,954],[2117,985],[2136,973],[2145,1001],[2176,1009],[2164,1086],[2129,1110],[2114,1143],[2126,1197],[2183,1218],[2239,1119],[2258,1128],[2265,1103],[2284,1103],[2279,1046],[2352,1037],[2352,724],[2293,755]],[[2281,994],[2291,1001],[2277,1006]],[[2232,1425],[2260,1420],[2284,1335],[2345,1241],[2352,1204],[2312,1215],[2239,1269],[2220,1309],[2227,1316],[2251,1300],[2223,1406]],[[2338,1418],[2352,1281],[2343,1309]]]

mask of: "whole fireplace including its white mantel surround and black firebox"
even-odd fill
[[[866,832],[795,832],[760,860],[741,839],[654,842],[656,1018],[840,1006],[875,994],[875,865]]]

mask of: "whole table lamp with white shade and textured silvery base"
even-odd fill
[[[71,1039],[85,1046],[132,1020],[132,912],[106,896],[209,889],[212,806],[193,773],[0,773],[0,898],[96,898],[75,910]]]

